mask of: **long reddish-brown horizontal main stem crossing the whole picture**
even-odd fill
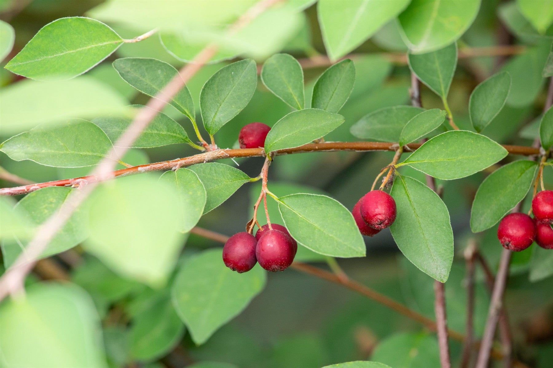
[[[418,149],[421,143],[410,143],[405,145],[406,151],[414,151]],[[503,147],[513,155],[535,156],[540,153],[539,148],[527,147],[527,146],[512,146],[503,145]],[[395,151],[397,149],[397,143],[383,143],[383,142],[325,142],[325,143],[310,143],[295,148],[287,148],[283,150],[274,151],[274,155],[289,155],[308,152],[334,152],[334,151]],[[263,148],[244,148],[235,150],[215,150],[197,154],[194,156],[184,157],[182,159],[175,159],[170,161],[155,162],[153,164],[139,165],[128,167],[127,169],[121,169],[112,171],[108,178],[127,176],[134,174],[142,174],[143,172],[150,171],[166,171],[172,170],[175,167],[186,167],[195,164],[202,164],[204,162],[221,160],[235,157],[255,157],[265,156]],[[102,179],[89,175],[72,179],[63,179],[49,181],[45,183],[36,183],[33,185],[26,185],[12,188],[0,188],[0,196],[15,196],[18,194],[27,194],[39,190],[45,187],[80,187],[86,183],[92,183],[101,181]],[[107,180],[103,178],[103,180]]]

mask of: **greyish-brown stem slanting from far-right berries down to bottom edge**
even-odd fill
[[[511,251],[507,249],[503,249],[501,253],[499,270],[493,286],[492,301],[489,306],[486,328],[484,329],[484,335],[478,352],[476,368],[486,368],[488,366],[489,355],[493,344],[493,335],[495,334],[495,327],[497,326],[499,313],[503,306],[503,292],[505,291],[507,276],[509,274],[511,254]]]

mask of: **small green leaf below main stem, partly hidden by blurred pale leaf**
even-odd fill
[[[189,232],[196,226],[206,205],[207,192],[197,174],[182,167],[177,171],[166,171],[159,178],[169,183],[179,193],[179,205],[182,208],[180,231]]]

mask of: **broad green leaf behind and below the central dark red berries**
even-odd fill
[[[203,344],[236,317],[263,290],[267,276],[259,266],[237,274],[225,266],[221,249],[188,260],[175,277],[171,295],[192,340]]]

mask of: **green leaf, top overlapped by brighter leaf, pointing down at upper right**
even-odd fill
[[[457,44],[426,54],[408,54],[408,60],[420,81],[446,99],[457,67]]]

